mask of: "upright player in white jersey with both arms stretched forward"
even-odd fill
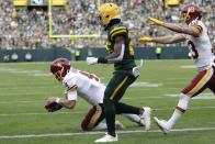
[[[192,58],[199,73],[190,81],[190,84],[181,90],[178,106],[168,121],[159,120],[155,117],[155,121],[160,130],[167,134],[181,115],[186,111],[189,101],[192,97],[200,95],[206,88],[215,93],[215,69],[213,66],[212,44],[207,35],[207,27],[201,21],[201,10],[194,4],[188,4],[181,11],[184,24],[166,23],[163,21],[149,18],[152,25],[162,26],[174,31],[179,34],[161,37],[140,37],[139,43],[160,43],[172,44],[186,41]]]

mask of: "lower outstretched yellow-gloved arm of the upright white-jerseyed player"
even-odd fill
[[[173,44],[173,43],[180,43],[185,41],[184,35],[182,34],[176,34],[170,36],[161,36],[161,37],[140,37],[138,38],[138,42],[140,44],[146,43],[160,43],[160,44]]]

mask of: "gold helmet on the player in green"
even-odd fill
[[[111,20],[121,19],[121,9],[115,3],[104,3],[99,7],[98,14],[101,24],[106,26]]]

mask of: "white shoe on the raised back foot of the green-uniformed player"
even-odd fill
[[[143,119],[143,124],[145,125],[145,130],[148,131],[150,129],[150,112],[151,109],[149,107],[143,107],[144,113],[140,115]]]

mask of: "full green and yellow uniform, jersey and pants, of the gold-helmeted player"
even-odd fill
[[[109,134],[115,134],[115,113],[139,114],[139,108],[120,102],[126,89],[136,80],[133,68],[136,66],[134,58],[134,44],[128,35],[128,30],[122,23],[116,23],[108,30],[106,49],[114,53],[115,36],[124,36],[124,56],[121,62],[114,63],[113,77],[104,91],[104,114]]]

